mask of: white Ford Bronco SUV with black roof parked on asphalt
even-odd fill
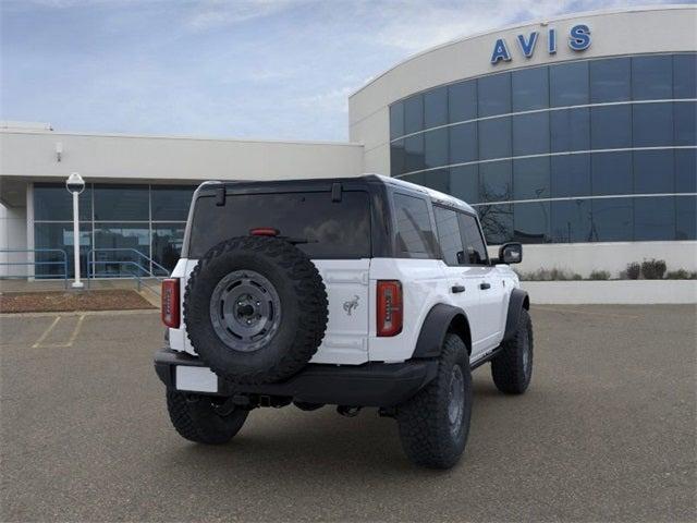
[[[259,406],[371,406],[412,461],[450,467],[470,370],[490,362],[505,393],[530,382],[521,259],[517,243],[489,258],[467,204],[391,178],[206,182],[162,284],[172,424],[224,443]]]

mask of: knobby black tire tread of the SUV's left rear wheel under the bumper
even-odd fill
[[[199,401],[205,401],[205,399]],[[167,410],[170,414],[172,425],[184,439],[197,443],[227,443],[237,434],[247,417],[246,412],[233,412],[230,415],[231,417],[224,421],[225,429],[213,429],[210,426],[207,427],[200,422],[197,422],[192,415],[192,409],[196,409],[196,405],[189,404],[185,393],[175,390],[167,391]],[[210,411],[207,415],[216,416],[217,414]]]

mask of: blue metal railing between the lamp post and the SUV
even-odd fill
[[[132,255],[136,255],[135,259],[97,259],[99,253],[130,253]],[[114,275],[113,272],[98,272],[97,266],[103,265],[117,265],[119,266],[119,273]],[[125,268],[125,270],[124,270]],[[156,271],[160,271],[160,275],[157,275]],[[122,276],[125,272],[125,276]],[[146,256],[140,251],[136,248],[90,248],[87,253],[87,287],[90,287],[90,281],[96,278],[133,278],[136,281],[138,291],[145,287],[150,291],[154,291],[156,294],[159,294],[159,287],[155,289],[152,285],[149,285],[146,280],[156,279],[158,281],[163,280],[164,278],[170,276],[170,271],[162,267],[160,264],[155,262],[149,256]]]

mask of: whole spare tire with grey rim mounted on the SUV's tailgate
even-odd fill
[[[239,384],[297,373],[317,352],[327,315],[319,271],[277,238],[233,238],[213,246],[184,294],[186,332],[198,356]]]

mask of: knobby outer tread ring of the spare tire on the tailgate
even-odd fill
[[[285,355],[272,367],[252,374],[235,374],[229,368],[222,368],[206,357],[206,348],[198,348],[187,329],[186,336],[194,344],[198,356],[213,373],[235,384],[269,384],[290,378],[299,372],[315,355],[325,337],[328,320],[327,290],[315,264],[291,243],[269,236],[240,236],[221,242],[211,247],[198,262],[186,283],[184,294],[184,321],[186,325],[192,313],[208,315],[208,311],[191,311],[188,295],[200,272],[218,256],[235,250],[253,251],[270,258],[286,270],[293,282],[293,289],[298,296],[298,306],[303,311],[304,321],[298,326],[295,340]]]

